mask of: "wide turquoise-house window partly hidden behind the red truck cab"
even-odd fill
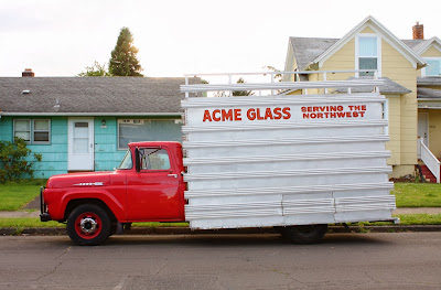
[[[181,140],[181,119],[118,119],[118,149],[131,142]]]

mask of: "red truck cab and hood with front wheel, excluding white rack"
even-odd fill
[[[77,245],[98,245],[121,224],[185,221],[183,171],[181,143],[130,143],[114,172],[50,178],[41,221],[67,221]]]

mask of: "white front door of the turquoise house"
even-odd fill
[[[94,118],[68,119],[67,170],[94,170]]]

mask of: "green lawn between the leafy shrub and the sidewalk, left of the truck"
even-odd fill
[[[22,180],[0,184],[0,211],[18,211],[40,194],[46,180]]]

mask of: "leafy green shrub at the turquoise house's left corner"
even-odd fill
[[[31,155],[36,162],[42,160],[42,155],[32,153],[21,138],[15,137],[13,142],[0,141],[0,183],[24,176],[33,178],[32,162],[26,160]]]

